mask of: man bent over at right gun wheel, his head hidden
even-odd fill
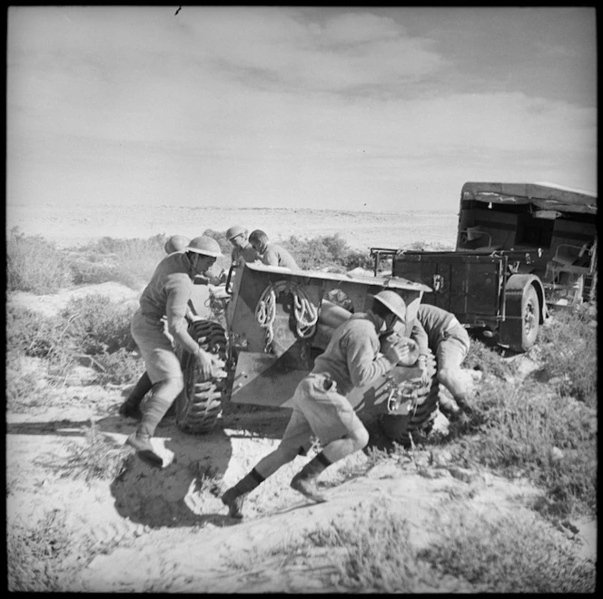
[[[455,403],[450,400],[449,403],[440,397],[440,411],[449,418],[460,416],[460,411],[470,416],[472,410],[467,389],[459,376],[460,364],[470,349],[467,330],[447,310],[420,304],[410,338],[419,346],[420,363],[425,363],[427,348],[431,349],[438,364],[438,382],[450,391],[454,399]]]

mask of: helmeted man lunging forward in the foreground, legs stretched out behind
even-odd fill
[[[324,448],[293,476],[291,486],[313,501],[326,501],[316,487],[316,477],[369,442],[369,433],[346,395],[408,359],[410,349],[399,338],[386,343],[384,355],[380,354],[380,334],[389,333],[405,317],[404,300],[395,291],[385,290],[373,296],[368,312],[352,315],[335,329],[327,349],[295,391],[292,417],[279,447],[222,495],[230,516],[242,518],[247,494],[296,456],[307,455],[312,435]]]

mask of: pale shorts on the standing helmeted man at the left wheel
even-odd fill
[[[163,320],[144,316],[140,310],[133,315],[132,337],[144,359],[151,382],[183,376],[180,360],[173,351],[171,339],[165,335]]]

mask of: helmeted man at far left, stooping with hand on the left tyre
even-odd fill
[[[210,237],[195,237],[182,251],[166,256],[143,290],[140,307],[132,319],[132,336],[144,359],[153,393],[143,405],[143,414],[136,431],[126,444],[136,450],[138,457],[151,466],[163,466],[163,460],[153,450],[151,439],[155,428],[183,390],[183,371],[172,340],[165,334],[163,317],[173,340],[199,362],[204,378],[214,374],[219,365],[216,358],[201,349],[188,333],[185,319],[193,279],[203,275],[221,256],[220,246]]]

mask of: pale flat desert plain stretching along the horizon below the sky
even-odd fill
[[[331,207],[329,207],[331,208]],[[272,241],[292,235],[308,239],[339,234],[351,248],[400,248],[416,242],[454,247],[457,212],[402,212],[383,214],[299,209],[219,209],[179,206],[8,204],[6,230],[18,227],[28,235],[43,235],[61,246],[79,245],[100,237],[131,239],[165,233],[190,238],[206,229],[225,231],[242,224],[249,231],[262,229]]]

